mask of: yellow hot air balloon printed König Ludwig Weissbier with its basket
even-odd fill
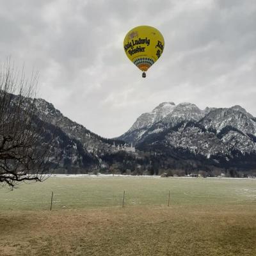
[[[163,35],[150,26],[131,29],[124,38],[124,51],[129,60],[140,68],[142,77],[161,56],[164,50]]]

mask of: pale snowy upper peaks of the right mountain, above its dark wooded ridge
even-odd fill
[[[241,106],[202,110],[189,102],[182,102],[177,106],[173,102],[163,102],[152,112],[141,115],[131,129],[120,136],[120,139],[141,143],[152,134],[160,134],[177,125],[189,122],[204,127],[206,130],[216,131],[216,134],[227,129],[236,129],[241,131],[241,134],[256,136],[256,118],[253,118]]]

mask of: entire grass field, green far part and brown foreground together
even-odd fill
[[[51,177],[0,189],[0,255],[256,255],[255,220],[253,179]]]

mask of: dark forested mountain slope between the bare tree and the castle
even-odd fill
[[[31,104],[31,99],[26,100]],[[113,140],[102,138],[83,125],[73,122],[51,103],[36,99],[35,107],[33,122],[41,132],[39,143],[51,141],[52,145],[48,159],[49,168],[84,173],[100,168],[100,156],[115,151]],[[122,144],[124,141],[115,140],[115,145]]]

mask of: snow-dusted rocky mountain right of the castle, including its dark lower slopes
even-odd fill
[[[165,104],[157,106],[157,112],[154,109],[141,115],[119,138],[143,151],[158,150],[160,155],[168,155],[171,150],[172,156],[178,158],[203,157],[208,164],[247,164],[256,169],[256,118],[241,106],[202,110],[191,103],[172,103],[164,111]],[[164,115],[157,115],[162,112]],[[144,118],[153,115],[154,118]],[[248,156],[250,161],[245,162]]]

